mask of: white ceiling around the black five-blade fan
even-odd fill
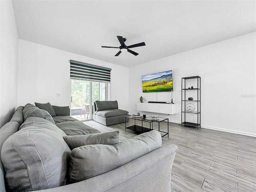
[[[135,66],[256,31],[256,1],[13,0],[20,39]],[[145,42],[114,55],[120,43]],[[72,58],[70,58],[72,59]]]

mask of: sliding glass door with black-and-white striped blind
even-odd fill
[[[71,116],[92,120],[93,102],[109,100],[110,68],[70,60]]]

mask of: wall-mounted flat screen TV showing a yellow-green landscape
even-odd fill
[[[172,70],[142,75],[142,91],[144,93],[172,91]]]

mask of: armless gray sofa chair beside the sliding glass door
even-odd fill
[[[103,125],[113,125],[126,121],[128,111],[118,109],[117,101],[95,101],[93,120]]]

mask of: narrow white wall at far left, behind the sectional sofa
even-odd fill
[[[0,127],[8,122],[17,105],[18,32],[12,1],[0,1]]]

